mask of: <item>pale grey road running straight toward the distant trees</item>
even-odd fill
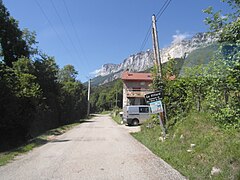
[[[185,179],[108,115],[97,115],[0,167],[2,180]]]

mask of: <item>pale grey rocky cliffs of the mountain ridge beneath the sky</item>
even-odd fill
[[[197,33],[190,39],[174,40],[169,47],[160,50],[161,62],[165,63],[171,58],[186,58],[193,51],[212,45],[217,38],[209,33]],[[95,71],[93,85],[101,85],[121,77],[123,71],[145,71],[153,66],[153,52],[147,50],[130,55],[120,64],[104,64]]]

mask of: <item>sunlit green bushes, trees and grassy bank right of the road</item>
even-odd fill
[[[173,81],[174,60],[163,78],[153,71],[154,89],[164,92],[166,139],[156,117],[133,134],[189,179],[240,179],[240,3],[226,2],[235,9],[227,19],[205,10],[217,51],[195,51],[200,56],[189,56],[189,67]]]

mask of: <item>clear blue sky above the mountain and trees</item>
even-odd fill
[[[3,0],[21,29],[37,34],[38,48],[62,68],[74,65],[78,79],[94,77],[103,64],[119,64],[152,48],[151,25],[166,0]],[[178,38],[208,31],[202,10],[230,11],[220,0],[172,0],[157,21],[160,48]]]

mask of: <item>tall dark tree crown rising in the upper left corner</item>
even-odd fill
[[[18,58],[29,57],[29,48],[22,38],[22,31],[18,27],[18,22],[10,16],[7,8],[0,0],[0,43],[3,61],[9,67]]]

